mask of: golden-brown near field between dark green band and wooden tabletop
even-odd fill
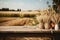
[[[18,18],[18,17],[2,17],[0,18],[0,26],[24,26],[28,25],[29,21],[34,21],[32,18]],[[32,23],[30,22],[32,25]]]

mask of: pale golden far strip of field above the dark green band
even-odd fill
[[[39,14],[39,12],[37,11],[37,12],[35,12],[35,11],[32,11],[32,12],[18,12],[18,11],[0,11],[0,14],[31,14],[31,15],[37,15],[37,14]]]

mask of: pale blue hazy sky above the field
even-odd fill
[[[0,0],[0,8],[39,10],[48,8],[47,1],[52,5],[52,0]]]

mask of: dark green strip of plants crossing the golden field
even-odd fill
[[[23,17],[27,17],[27,18],[33,18],[33,17],[35,17],[36,15],[34,15],[34,14],[14,14],[14,13],[0,13],[0,17],[21,17],[21,18],[23,18]]]

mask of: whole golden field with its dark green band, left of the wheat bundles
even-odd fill
[[[0,26],[32,26],[39,12],[0,11]]]

